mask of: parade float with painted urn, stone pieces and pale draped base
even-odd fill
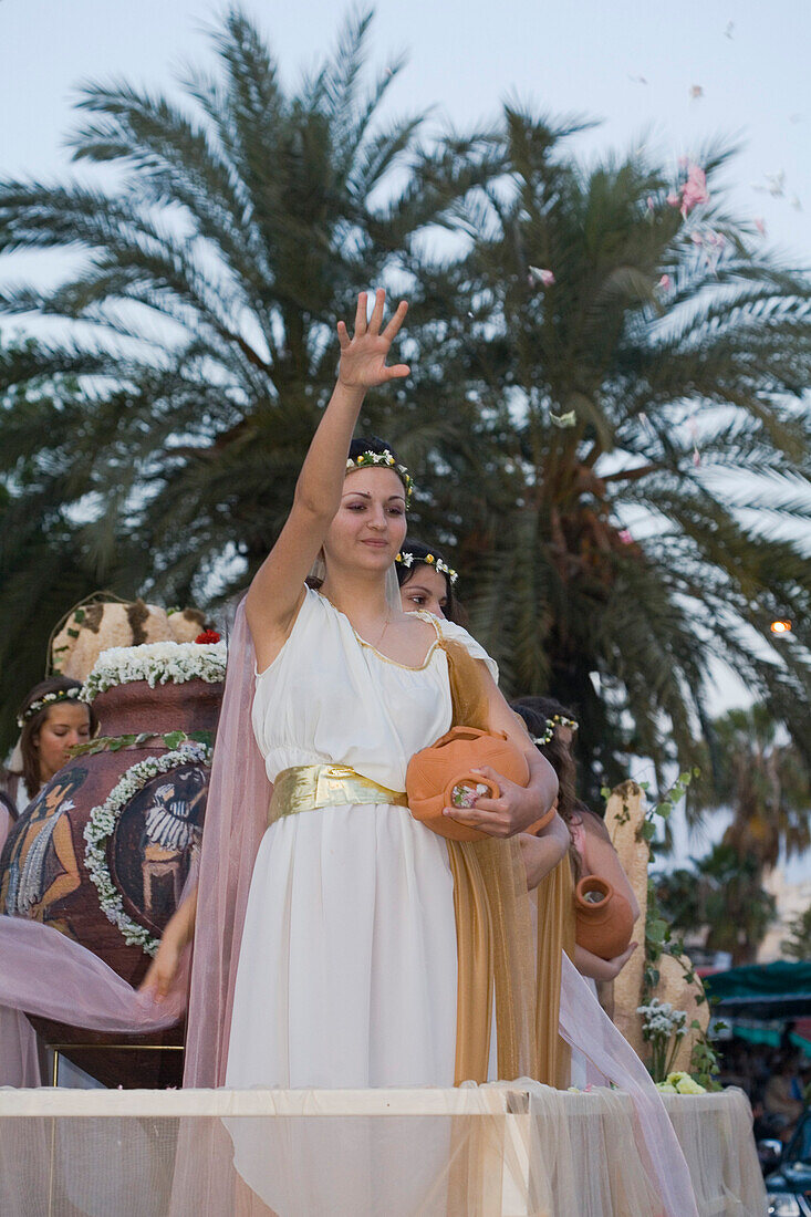
[[[62,671],[84,679],[99,735],[12,830],[0,859],[0,901],[4,912],[89,947],[135,985],[200,840],[225,649],[200,621],[184,627],[196,630],[192,640],[179,640],[166,636],[175,615],[139,608],[135,641],[127,606],[116,606],[108,633],[105,615],[72,623],[75,636],[60,641]],[[117,645],[105,645],[110,634]],[[77,672],[71,644],[79,650],[79,640],[84,671]],[[759,1217],[764,1188],[748,1101],[738,1090],[697,1093],[689,1072],[709,1011],[689,961],[658,942],[648,908],[650,823],[639,786],[610,793],[606,825],[642,909],[633,931],[641,949],[614,985],[614,1019],[655,1076],[664,1066],[653,1060],[642,1008],[658,1003],[683,1014],[671,1027],[683,1034],[670,1036],[662,1058],[677,1082],[662,1077],[661,1099],[697,1212]],[[308,1189],[325,1173],[336,1213],[673,1212],[662,1208],[632,1097],[606,1086],[599,1069],[580,1090],[519,1079],[454,1089],[174,1092],[181,1026],[145,1044],[32,1021],[107,1089],[0,1092],[0,1211],[268,1213],[234,1157],[236,1122],[258,1138],[262,1160],[281,1152],[273,1199],[283,1204],[273,1207],[285,1213],[312,1211]]]

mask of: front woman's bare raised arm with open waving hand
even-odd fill
[[[386,293],[379,291],[367,320],[367,293],[360,292],[352,338],[339,321],[341,361],[335,391],[298,475],[291,512],[245,601],[259,669],[273,662],[292,628],[304,579],[341,504],[349,442],[367,389],[409,374],[406,364],[386,365],[408,305],[401,302],[384,329],[385,303]]]

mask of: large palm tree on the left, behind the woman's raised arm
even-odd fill
[[[211,602],[272,545],[334,381],[336,316],[360,287],[408,285],[420,239],[453,228],[500,163],[487,135],[424,151],[421,114],[381,117],[402,65],[365,66],[369,22],[349,19],[335,52],[285,91],[233,9],[214,32],[218,71],[188,75],[185,105],[127,83],[83,89],[74,159],[114,167],[104,189],[0,183],[0,252],[80,254],[55,288],[0,293],[0,309],[34,314],[40,333],[41,319],[58,320],[52,338],[0,349],[6,521],[54,539],[17,566],[6,555],[5,619],[43,579],[58,589],[66,565],[82,576],[60,612],[77,588],[111,581],[130,596]],[[440,307],[427,276],[423,329]],[[407,404],[370,399],[364,425],[393,420],[395,441],[418,443],[425,419]],[[51,624],[28,635],[26,673],[41,672]],[[24,679],[4,674],[10,701]]]

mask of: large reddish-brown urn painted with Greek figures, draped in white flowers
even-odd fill
[[[102,651],[82,690],[100,728],[43,787],[0,856],[0,909],[74,938],[130,985],[144,978],[200,846],[225,644],[161,641]],[[208,639],[212,639],[211,641]],[[58,977],[54,977],[58,985]],[[32,1019],[105,1084],[173,1084],[181,1032],[150,1051]],[[116,1037],[117,1039],[125,1037]],[[132,1037],[133,1043],[139,1041]]]

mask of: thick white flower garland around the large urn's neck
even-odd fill
[[[184,684],[225,679],[225,643],[146,643],[142,646],[111,646],[96,660],[80,697],[90,702],[116,685],[146,680],[156,684]]]

